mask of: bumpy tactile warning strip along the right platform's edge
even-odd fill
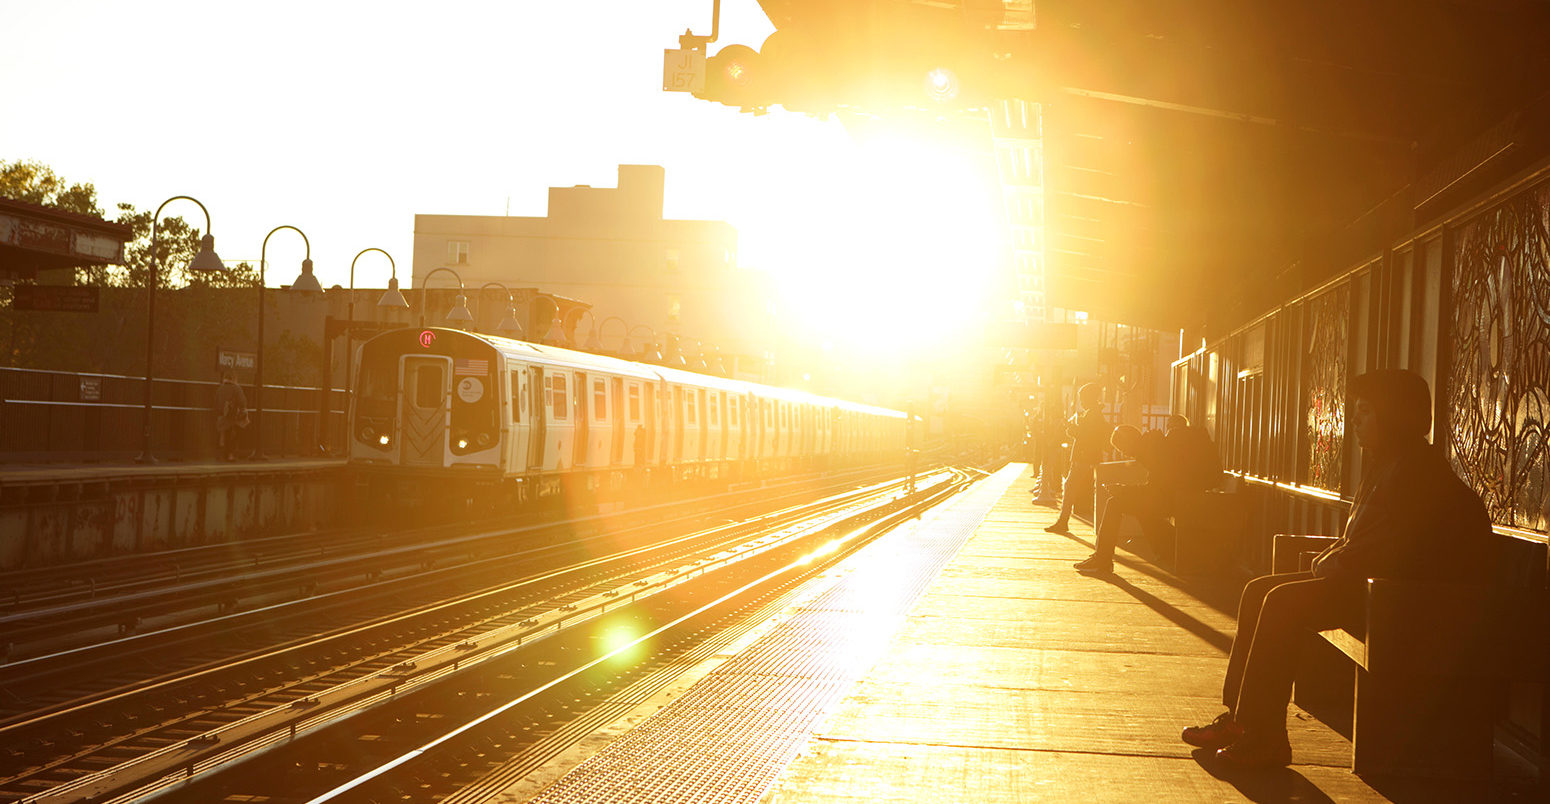
[[[758,801],[1020,474],[1003,469],[859,551],[828,592],[533,801]]]

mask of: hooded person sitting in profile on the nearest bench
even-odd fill
[[[1483,582],[1496,558],[1485,505],[1426,442],[1431,393],[1387,369],[1352,380],[1350,421],[1366,451],[1345,531],[1311,572],[1266,575],[1243,589],[1221,702],[1228,711],[1183,733],[1238,767],[1291,762],[1286,705],[1305,635],[1361,621],[1367,578]]]

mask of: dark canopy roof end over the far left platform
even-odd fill
[[[0,198],[0,280],[40,270],[118,265],[130,228],[95,215]]]

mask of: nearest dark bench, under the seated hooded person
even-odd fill
[[[1333,541],[1277,534],[1273,570]],[[1544,589],[1369,578],[1364,621],[1318,635],[1355,663],[1352,770],[1488,778],[1504,685],[1545,682],[1545,603]]]

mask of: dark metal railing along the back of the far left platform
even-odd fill
[[[150,449],[158,459],[217,457],[215,387],[153,380]],[[144,376],[0,367],[0,463],[132,460],[144,446]],[[243,393],[251,404],[253,386]],[[324,400],[318,387],[265,384],[264,406],[264,432],[256,424],[242,431],[239,455],[315,457],[343,449],[343,390]]]

